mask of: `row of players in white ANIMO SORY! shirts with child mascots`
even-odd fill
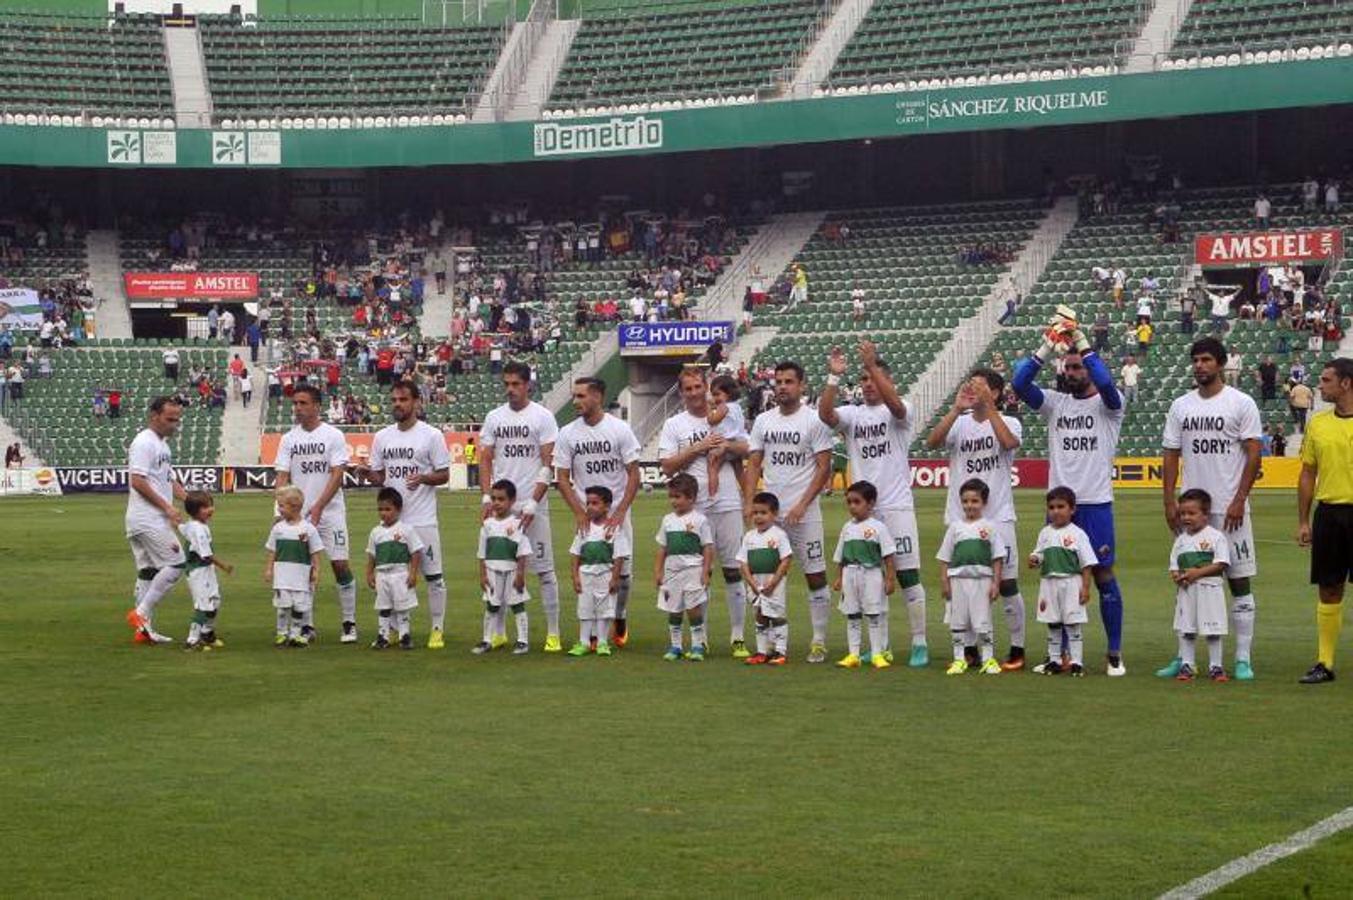
[[[1043,391],[1035,383],[1042,365],[1054,353],[1068,355],[1063,368],[1066,392]],[[920,548],[907,457],[913,429],[912,410],[897,394],[886,364],[877,357],[871,344],[866,341],[861,345],[859,357],[863,364],[861,378],[863,405],[836,403],[836,386],[847,368],[844,355],[839,351],[829,359],[829,375],[817,409],[802,402],[805,384],[801,367],[782,363],[775,371],[775,406],[759,415],[750,430],[741,420],[737,405],[731,402],[729,391],[718,384],[718,379],[712,392],[702,369],[690,368],[681,374],[679,387],[685,410],[664,424],[659,443],[662,468],[672,479],[672,516],[685,517],[682,526],[674,529],[670,536],[664,536],[666,532],[659,535],[660,571],[655,581],[660,590],[659,605],[667,610],[672,628],[670,658],[682,655],[702,658],[706,651],[704,598],[708,597],[710,571],[716,559],[724,572],[733,654],[760,660],[777,652],[775,644],[779,643],[779,637],[774,631],[781,628],[777,620],[782,620],[783,616],[766,613],[766,578],[762,578],[774,572],[760,572],[750,566],[747,559],[750,548],[746,545],[752,532],[764,532],[763,526],[773,525],[783,535],[783,544],[787,545],[789,552],[785,559],[796,560],[808,583],[812,623],[808,659],[825,660],[831,587],[827,583],[819,497],[831,476],[832,432],[840,430],[846,438],[854,476],[865,483],[848,494],[852,520],[847,531],[852,525],[874,522],[866,531],[873,531],[875,536],[885,535],[890,551],[881,554],[879,558],[881,560],[890,558],[888,564],[866,566],[844,549],[847,545],[854,545],[852,541],[858,543],[856,539],[847,540],[843,535],[839,543],[836,559],[843,563],[843,571],[838,574],[835,586],[850,595],[842,601],[843,609],[847,610],[850,636],[850,652],[842,663],[858,665],[861,659],[858,650],[862,616],[870,620],[871,637],[877,629],[881,642],[871,647],[875,652],[871,652],[869,659],[881,660],[873,663],[879,666],[892,659],[892,651],[886,644],[889,631],[886,595],[892,593],[894,581],[901,587],[907,604],[912,633],[911,662],[913,665],[928,662],[925,591],[920,583]],[[1247,679],[1253,678],[1250,644],[1254,597],[1250,578],[1257,570],[1246,498],[1258,471],[1260,417],[1247,395],[1220,382],[1224,357],[1226,351],[1216,341],[1200,341],[1195,345],[1193,374],[1197,390],[1178,398],[1166,418],[1162,441],[1166,517],[1176,533],[1180,533],[1181,524],[1188,524],[1174,499],[1183,460],[1184,489],[1200,490],[1207,495],[1211,503],[1207,526],[1224,533],[1227,539],[1224,543],[1230,552],[1224,579],[1233,595],[1229,618],[1231,629],[1237,633],[1235,677]],[[574,386],[578,417],[559,429],[548,410],[530,402],[529,372],[524,369],[525,367],[513,364],[505,367],[506,402],[487,417],[480,433],[484,528],[490,529],[492,522],[505,522],[499,529],[506,532],[510,528],[513,535],[484,535],[480,540],[480,581],[486,589],[486,620],[483,640],[476,646],[478,651],[506,643],[507,610],[514,613],[518,624],[515,650],[525,651],[525,594],[518,591],[525,589],[528,570],[538,582],[545,612],[545,650],[563,650],[559,633],[559,583],[555,577],[548,514],[552,483],[557,485],[559,495],[574,516],[578,535],[574,541],[575,549],[582,551],[589,543],[587,535],[595,533],[595,529],[601,529],[607,541],[624,541],[628,547],[633,543],[629,508],[639,489],[639,441],[625,422],[603,411],[605,386],[597,379],[580,379]],[[953,585],[963,575],[950,571],[943,578],[948,601],[946,610],[950,613],[947,620],[951,625],[963,624],[962,647],[976,654],[974,662],[988,671],[1022,669],[1026,647],[1024,602],[1016,577],[1019,552],[1011,494],[1011,467],[1015,451],[1020,445],[1022,428],[1019,420],[994,411],[994,399],[1003,387],[1000,375],[981,369],[974,372],[959,391],[954,407],[927,437],[930,445],[948,448],[951,471],[957,474],[950,486],[946,525],[953,529],[969,521],[965,514],[962,487],[966,479],[976,479],[986,494],[985,509],[978,518],[989,526],[988,531],[994,539],[989,543],[988,551],[1001,551],[996,554],[1000,564],[988,574],[992,579],[990,593],[1003,601],[1009,632],[1009,654],[1000,665],[996,665],[989,655],[990,629],[986,628],[984,632],[980,628],[982,623],[974,621],[980,617],[954,614],[957,604],[953,600]],[[1093,581],[1099,590],[1101,618],[1108,636],[1107,671],[1111,675],[1122,675],[1126,673],[1120,646],[1122,595],[1112,570],[1114,518],[1109,476],[1123,418],[1123,398],[1114,387],[1107,367],[1089,352],[1088,341],[1069,310],[1059,311],[1059,319],[1049,329],[1042,346],[1016,372],[1013,387],[1049,421],[1051,483],[1069,489],[1068,497],[1063,498],[1070,501],[1066,503],[1069,514],[1062,528],[1074,526],[1084,537],[1082,545],[1086,552],[1080,559],[1088,564],[1077,567],[1080,575],[1076,579],[1080,581],[1077,606],[1084,608],[1081,601],[1088,601],[1088,585]],[[417,558],[417,568],[422,571],[428,585],[432,618],[429,646],[444,646],[446,589],[441,572],[434,491],[448,479],[449,459],[441,433],[418,420],[418,402],[417,388],[410,384],[394,386],[391,391],[394,424],[376,434],[369,463],[353,466],[342,434],[321,422],[318,395],[300,390],[292,398],[296,425],[284,436],[279,449],[276,460],[279,486],[295,487],[299,491],[300,506],[296,518],[308,522],[314,532],[314,536],[308,533],[306,536],[306,549],[317,551],[318,545],[322,545],[330,559],[338,585],[344,642],[357,640],[356,579],[348,563],[346,513],[341,490],[342,474],[352,467],[367,480],[391,489],[384,494],[387,499],[398,497],[400,501],[402,509],[395,509],[394,518],[377,529],[398,522],[414,536],[411,544],[421,545],[417,551],[406,545],[396,554],[400,559],[394,560],[380,556],[382,541],[368,541],[367,581],[377,593],[377,605],[387,604],[386,608],[390,610],[388,616],[382,616],[382,636],[387,639],[394,636],[411,646],[407,629],[399,628],[400,610],[391,600],[398,591],[384,589],[383,593],[380,585],[392,581],[386,577],[392,570],[387,570],[383,575],[383,566],[405,563],[407,568],[407,563]],[[188,567],[189,582],[193,578],[206,581],[214,568],[207,562],[210,556],[204,556],[200,548],[196,551],[192,548],[191,539],[188,555],[184,556],[179,536],[173,532],[173,526],[181,524],[173,499],[176,495],[183,495],[183,490],[170,480],[169,448],[165,438],[173,434],[176,426],[177,409],[169,402],[157,402],[152,407],[149,428],[138,434],[129,455],[133,490],[129,498],[126,532],[138,568],[137,604],[129,613],[129,621],[135,628],[137,639],[143,642],[156,642],[161,637],[153,628],[154,608],[177,581],[180,566]],[[679,475],[687,476],[691,485],[685,478],[678,478]],[[506,490],[507,486],[510,491]],[[589,491],[589,489],[595,490]],[[599,510],[594,503],[599,502],[602,494],[609,497],[605,509]],[[288,495],[292,495],[291,491]],[[690,495],[689,506],[678,506],[678,498],[687,495]],[[758,509],[758,503],[754,502],[758,497],[773,499],[774,508],[762,503]],[[682,499],[682,503],[685,502]],[[863,505],[861,510],[863,518],[855,516],[856,502]],[[383,503],[383,518],[384,508],[388,506],[388,502]],[[693,518],[693,514],[698,516],[698,520]],[[758,514],[763,521],[756,522]],[[1057,524],[1058,516],[1053,513],[1051,501],[1049,516],[1050,522]],[[285,521],[283,518],[279,525]],[[744,535],[744,526],[754,522],[756,526],[752,532]],[[708,543],[681,537],[705,532]],[[1192,533],[1187,526],[1184,532]],[[490,537],[501,540],[488,541]],[[520,537],[521,547],[529,552],[522,552],[520,556],[513,552],[509,560],[506,558],[507,544],[511,543],[509,537]],[[668,537],[676,547],[685,549],[675,552],[667,543]],[[946,536],[946,541],[950,537]],[[869,543],[869,539],[865,539],[865,543]],[[490,549],[490,544],[497,549]],[[277,554],[276,548],[269,549]],[[1040,549],[1045,549],[1042,540]],[[295,554],[295,548],[291,547],[287,552]],[[601,614],[612,612],[606,605],[607,601],[602,600],[601,606],[597,604],[591,606],[591,612],[597,614],[584,617],[582,614],[584,602],[579,601],[579,618],[590,623],[586,628],[591,631],[580,635],[574,651],[583,652],[595,646],[599,652],[605,652],[612,644],[624,646],[626,640],[632,566],[628,554],[620,555],[614,547],[609,552],[614,556],[614,570],[606,577],[605,586],[613,590],[605,593],[595,581],[589,582],[584,578],[601,572],[589,572],[584,563],[579,562],[580,552],[574,558],[575,593],[580,598],[612,597],[614,604],[613,616]],[[595,556],[601,549],[591,548],[589,554]],[[405,555],[409,559],[402,559]],[[867,556],[873,559],[871,554]],[[1047,554],[1042,554],[1040,558],[1046,560]],[[310,552],[307,559],[313,563],[315,554]],[[587,564],[599,566],[595,560]],[[1215,563],[1210,563],[1212,564]],[[1039,566],[1047,568],[1046,562],[1040,562]],[[862,600],[859,585],[847,590],[848,585],[855,583],[852,579],[856,579],[856,575],[848,574],[854,568],[878,570],[875,574],[884,579],[879,587],[888,589],[881,602]],[[1185,567],[1185,571],[1187,568],[1193,567]],[[501,577],[495,572],[507,575]],[[698,578],[691,572],[700,572]],[[1045,582],[1053,577],[1047,571],[1043,574]],[[1207,578],[1210,587],[1218,585],[1219,593],[1220,575],[1219,571],[1210,571],[1200,578]],[[313,577],[307,578],[313,585]],[[413,578],[413,572],[406,574],[406,579]],[[694,583],[693,578],[697,578]],[[782,586],[781,572],[769,593],[774,594],[774,589]],[[751,587],[750,600],[756,610],[755,655],[743,643],[748,587]],[[873,586],[865,593],[871,595],[871,591],[878,593]],[[200,591],[193,593],[196,595]],[[1050,604],[1045,593],[1040,589],[1039,618],[1049,621],[1045,610]],[[279,618],[279,635],[285,635],[285,643],[304,643],[314,633],[310,609],[298,610],[295,606],[285,606],[284,600],[287,598],[277,598],[275,604],[279,609],[290,610],[285,629],[281,628]],[[514,602],[518,600],[520,602]],[[210,605],[210,600],[202,604],[202,606]],[[1210,623],[1216,618],[1211,614],[1215,612],[1214,606],[1215,604],[1207,606]],[[770,610],[771,613],[777,610],[774,602]],[[214,632],[206,628],[212,613],[214,610],[207,608],[195,610],[196,643],[202,642],[203,632],[208,637],[214,636]],[[1063,618],[1078,618],[1078,614],[1073,614],[1074,609],[1068,608],[1066,613]],[[689,651],[682,648],[683,617],[691,629]],[[613,618],[613,624],[606,621],[609,618]],[[1224,625],[1227,617],[1220,618]],[[598,621],[607,627],[601,628]],[[1065,635],[1058,632],[1058,639],[1065,642],[1065,654],[1050,652],[1050,660],[1059,669],[1065,656],[1069,666],[1080,667],[1080,660],[1074,659],[1076,646],[1080,643],[1080,623],[1049,621],[1049,624],[1059,628],[1074,627]],[[1211,635],[1215,632],[1214,624],[1210,624],[1208,629],[1181,633]],[[379,637],[376,643],[380,643]],[[1162,671],[1166,674],[1192,671],[1192,660],[1184,651],[1181,639],[1180,656]]]

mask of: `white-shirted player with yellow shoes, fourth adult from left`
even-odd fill
[[[555,441],[559,425],[548,409],[530,399],[530,367],[525,363],[503,365],[503,392],[507,402],[494,409],[479,429],[479,490],[482,517],[488,517],[492,483],[507,479],[517,487],[513,514],[521,520],[530,541],[528,568],[540,581],[540,605],[545,610],[545,652],[563,650],[559,639],[559,578],[555,575],[555,549],[549,528],[549,485],[555,479]],[[506,621],[499,623],[495,637]]]

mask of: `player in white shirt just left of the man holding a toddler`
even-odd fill
[[[639,493],[639,438],[629,424],[602,410],[606,382],[599,378],[580,378],[574,382],[574,411],[576,418],[559,429],[555,441],[555,474],[559,494],[574,513],[575,531],[583,535],[591,526],[587,517],[589,487],[598,486],[616,498],[606,518],[606,528],[622,529],[625,544],[635,545],[635,526],[629,508]],[[609,642],[624,647],[629,640],[629,586],[633,559],[625,566],[616,589],[614,635]],[[605,636],[602,636],[603,639]],[[601,640],[601,639],[598,639]]]

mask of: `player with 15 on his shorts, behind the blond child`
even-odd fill
[[[291,395],[296,425],[281,436],[277,447],[277,487],[295,485],[306,498],[304,516],[325,543],[325,554],[338,583],[338,610],[342,614],[341,640],[357,643],[357,579],[348,564],[348,508],[344,503],[342,478],[348,471],[348,441],[333,425],[322,422],[319,388],[299,384]],[[308,609],[307,616],[314,616]],[[311,620],[303,625],[307,640],[315,637]]]

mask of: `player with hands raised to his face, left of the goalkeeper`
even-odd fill
[[[1001,669],[1017,671],[1024,667],[1024,597],[1019,591],[1019,541],[1011,483],[1015,451],[1024,438],[1024,426],[1017,418],[997,411],[1004,390],[1005,379],[1000,374],[986,368],[974,369],[958,388],[954,407],[931,429],[925,445],[931,449],[948,448],[946,525],[963,521],[959,487],[965,482],[976,478],[990,493],[985,516],[996,524],[1005,549],[1000,593],[1005,627],[1011,632],[1009,655]],[[971,650],[971,644],[969,648]]]

